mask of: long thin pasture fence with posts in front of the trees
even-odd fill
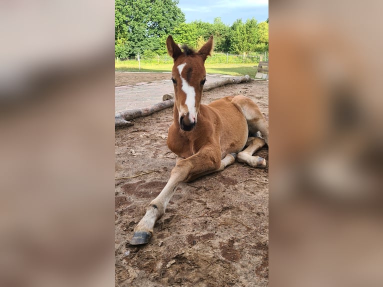
[[[137,54],[134,57],[128,58],[116,58],[115,61],[118,63],[119,61],[138,61],[138,65],[140,66],[141,62],[144,63],[172,63],[173,59],[165,54],[165,55],[154,55],[154,56],[145,56],[141,54]],[[268,52],[264,52],[261,54],[229,54],[229,53],[213,53],[211,57],[207,57],[206,63],[258,63],[259,61],[268,61]]]

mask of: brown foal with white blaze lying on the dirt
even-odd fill
[[[150,240],[155,221],[165,212],[180,182],[221,171],[235,158],[253,167],[266,166],[264,158],[252,156],[268,142],[268,124],[251,99],[226,96],[208,105],[200,104],[206,81],[204,61],[212,44],[210,36],[197,52],[187,46],[182,47],[182,52],[171,36],[166,39],[167,52],[174,60],[171,80],[175,95],[174,121],[169,127],[167,146],[177,155],[177,160],[165,187],[150,202],[134,228],[130,244]],[[263,139],[248,137],[257,131]],[[241,151],[245,145],[247,148]]]

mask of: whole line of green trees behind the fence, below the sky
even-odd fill
[[[201,20],[185,23],[178,0],[115,0],[115,55],[165,54],[166,37],[198,48],[210,35],[214,50],[243,54],[268,50],[268,19],[237,19],[231,26],[220,17],[213,23]]]

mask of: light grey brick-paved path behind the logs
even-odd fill
[[[213,83],[224,80],[230,75],[207,74],[206,81]],[[122,111],[146,107],[162,101],[162,95],[174,92],[170,79],[155,82],[142,82],[134,85],[116,86],[114,90],[114,111]]]

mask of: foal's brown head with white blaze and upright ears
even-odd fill
[[[167,52],[174,60],[171,80],[174,84],[178,122],[183,130],[191,130],[197,123],[203,84],[206,81],[205,59],[210,55],[213,36],[198,50],[183,45],[183,52],[171,36],[166,39]]]

